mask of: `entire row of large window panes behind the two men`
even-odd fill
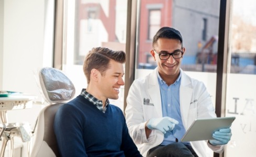
[[[153,26],[156,26],[155,21],[160,21],[160,27],[170,26],[181,31],[184,38],[184,46],[187,51],[183,58],[182,69],[185,70],[188,75],[206,84],[209,93],[212,94],[213,102],[215,103],[215,100],[218,100],[218,97],[216,98],[215,96],[217,80],[215,72],[221,1],[202,0],[200,2],[193,1],[188,3],[186,0],[138,0],[136,2],[140,4],[138,5],[138,34],[134,39],[131,39],[136,40],[135,38],[137,38],[135,41],[137,57],[135,78],[146,75],[155,67],[154,61],[149,53],[152,47],[150,39],[152,37],[150,37],[150,33],[154,31]],[[84,55],[87,52],[83,51],[80,45],[83,44],[83,49],[91,49],[93,46],[107,46],[113,49],[124,50],[126,44],[126,18],[124,17],[127,17],[127,6],[124,5],[123,0],[84,0],[81,2],[66,1],[66,3],[68,4],[65,5],[67,7],[66,11],[69,12],[69,16],[65,17],[65,20],[67,20],[65,23],[66,38],[64,39],[64,54],[66,53],[64,58],[66,61],[63,64],[63,70],[74,80],[78,92],[77,94],[79,94],[80,89],[86,87],[85,76],[81,69]],[[228,48],[230,55],[228,71],[230,73],[227,75],[227,93],[224,93],[227,95],[227,99],[224,104],[227,104],[225,106],[226,116],[236,116],[237,119],[232,125],[233,137],[226,147],[225,156],[251,156],[256,147],[255,144],[250,143],[249,145],[244,145],[243,143],[248,142],[248,138],[252,141],[256,140],[253,138],[256,137],[254,91],[254,89],[256,89],[256,78],[255,75],[248,75],[256,74],[256,40],[253,36],[256,30],[256,24],[254,23],[256,19],[254,19],[255,16],[253,16],[256,4],[252,5],[251,3],[255,2],[251,0],[243,2],[233,0],[232,3],[233,7],[229,32],[230,41],[228,41],[230,43]],[[229,6],[227,7],[229,8]],[[82,8],[84,8],[84,12],[79,13]],[[113,10],[115,10],[115,16],[112,15]],[[104,13],[104,16],[102,16],[102,13]],[[81,18],[79,15],[83,15],[84,17]],[[110,22],[104,23],[106,19]],[[145,19],[148,21],[145,22]],[[154,21],[155,23],[151,23],[151,19],[152,21],[153,19],[157,20]],[[84,25],[82,24],[82,20],[92,20],[93,22],[89,22],[89,25]],[[94,23],[101,26],[92,27]],[[109,25],[113,27],[113,29],[109,29]],[[150,28],[151,25],[152,28]],[[103,33],[94,32],[94,28],[101,28],[96,30]],[[112,36],[113,32],[115,32],[114,36]],[[99,35],[103,35],[104,38],[99,37]],[[131,37],[133,36],[135,35],[132,34]],[[203,40],[203,36],[205,40]],[[90,42],[83,41],[88,39],[99,42],[96,42],[96,44],[93,42],[94,44],[91,45]],[[133,49],[131,51],[133,51]],[[214,54],[212,55],[213,58],[210,58],[210,55],[208,55],[210,51]],[[201,53],[203,53],[203,55],[201,55]],[[123,91],[121,91],[120,94],[121,103],[118,102],[116,104],[123,105],[125,95]],[[123,108],[123,106],[120,106],[120,108]],[[237,136],[238,134],[239,136]],[[244,142],[241,142],[243,140]]]

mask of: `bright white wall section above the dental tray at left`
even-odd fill
[[[38,95],[34,71],[42,67],[44,1],[4,1],[3,89]]]

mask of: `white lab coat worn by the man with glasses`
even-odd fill
[[[161,144],[164,138],[163,133],[159,130],[152,130],[148,139],[145,133],[145,124],[150,118],[162,117],[157,73],[158,69],[156,68],[149,75],[135,80],[127,96],[125,110],[127,126],[131,138],[143,156],[147,155],[149,149]],[[212,98],[205,85],[186,75],[182,70],[180,107],[186,130],[196,118],[216,117]],[[214,147],[207,141],[193,141],[191,145],[197,155],[202,157],[213,156],[213,151],[218,153],[223,151],[223,145]]]

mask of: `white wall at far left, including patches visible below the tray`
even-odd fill
[[[52,63],[51,56],[43,53],[49,1],[0,0],[0,90],[28,93],[41,100],[35,76]],[[10,110],[7,118],[9,122],[28,121],[32,126],[42,107],[34,103],[31,109]],[[27,143],[23,143],[22,156],[27,156]]]

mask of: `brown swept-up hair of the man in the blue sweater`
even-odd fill
[[[86,55],[84,60],[83,70],[87,78],[87,83],[90,83],[90,75],[92,69],[97,69],[102,75],[109,68],[110,60],[119,63],[125,63],[126,54],[124,51],[113,51],[108,48],[97,47],[93,48]]]

